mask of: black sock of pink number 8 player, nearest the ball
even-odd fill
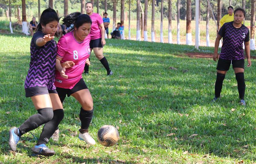
[[[88,128],[92,121],[93,109],[90,111],[85,111],[82,107],[80,110],[79,118],[81,120],[81,129],[79,129],[80,133],[88,132]]]

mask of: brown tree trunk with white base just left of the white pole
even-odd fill
[[[191,34],[191,0],[187,0],[187,11],[186,11],[186,44],[192,44],[192,34]]]

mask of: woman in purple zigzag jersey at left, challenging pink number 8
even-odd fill
[[[38,113],[30,116],[19,128],[13,127],[9,130],[9,145],[12,151],[16,151],[16,146],[23,134],[45,124],[32,151],[44,156],[52,156],[55,153],[46,146],[46,143],[64,116],[63,107],[54,86],[57,50],[53,38],[58,23],[59,17],[55,10],[45,9],[41,14],[36,33],[32,37],[25,93],[26,97],[31,98]]]

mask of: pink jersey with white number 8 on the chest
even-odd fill
[[[60,76],[60,72],[56,71],[55,86],[59,88],[72,89],[82,78],[85,60],[90,57],[90,34],[86,36],[83,42],[76,41],[73,31],[60,37],[57,44],[57,56],[62,58],[60,63],[65,61],[73,61],[75,66],[66,68],[65,74],[68,79]]]

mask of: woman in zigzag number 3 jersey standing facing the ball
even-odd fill
[[[217,64],[217,78],[215,82],[215,97],[212,101],[220,98],[223,80],[232,63],[236,74],[237,88],[240,98],[240,104],[245,105],[244,93],[244,50],[248,61],[248,67],[252,65],[250,58],[250,32],[242,22],[245,17],[245,11],[237,8],[234,12],[234,21],[225,23],[221,28],[215,40],[213,60],[218,60],[218,47],[220,39],[223,38],[223,44],[220,51],[220,59]],[[243,49],[244,43],[244,49]]]

